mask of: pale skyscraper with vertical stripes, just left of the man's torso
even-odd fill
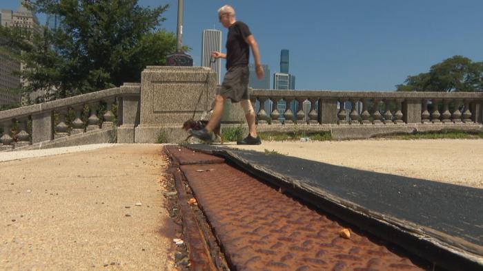
[[[210,67],[217,74],[218,84],[221,84],[221,61],[210,63],[211,52],[221,52],[221,31],[215,29],[203,30],[201,36],[201,66]]]

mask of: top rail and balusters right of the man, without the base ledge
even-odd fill
[[[362,91],[274,91],[253,89],[253,100],[264,105],[273,102],[273,110],[267,113],[264,107],[257,112],[257,119],[264,124],[267,116],[272,120],[284,116],[283,122],[274,124],[305,124],[302,111],[304,101],[311,102],[308,122],[318,120],[319,124],[410,124],[410,123],[482,123],[482,93],[440,93],[440,92],[362,92]],[[286,106],[279,112],[277,104],[284,101],[290,105],[297,101],[298,111]],[[459,109],[464,100],[462,111]],[[318,103],[319,109],[315,109]],[[455,107],[449,111],[449,105]],[[346,105],[350,104],[350,110]],[[432,105],[431,113],[428,105]],[[442,107],[442,112],[440,111]],[[370,113],[370,111],[372,113]],[[317,116],[315,115],[317,114]],[[294,122],[295,120],[295,122]]]

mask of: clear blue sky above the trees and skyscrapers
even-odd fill
[[[0,0],[0,8],[17,9],[13,2]],[[161,28],[176,32],[177,0],[139,1],[165,3]],[[393,90],[456,54],[483,61],[482,0],[184,0],[183,43],[193,48],[195,65],[204,29],[223,30],[226,41],[217,18],[224,4],[248,24],[272,74],[280,50],[290,50],[296,89]]]

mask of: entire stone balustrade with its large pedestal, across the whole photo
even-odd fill
[[[103,142],[182,142],[183,122],[193,111],[200,119],[210,109],[217,87],[209,68],[147,67],[141,83],[0,111],[0,151]],[[255,112],[261,132],[330,131],[335,139],[351,139],[444,129],[483,131],[483,93],[250,91],[253,107],[261,105]],[[272,103],[271,111],[266,111],[266,102]],[[284,111],[279,111],[281,102],[288,105]],[[290,108],[292,102],[298,105],[296,110]],[[99,112],[103,105],[106,111]],[[226,102],[221,123],[244,124],[239,105]]]

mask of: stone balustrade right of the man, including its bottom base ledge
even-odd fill
[[[335,139],[351,139],[415,131],[482,131],[481,92],[253,89],[251,95],[253,103],[261,105],[255,113],[262,132],[329,131]],[[296,112],[290,108],[292,100],[298,105]],[[268,102],[273,105],[272,112],[265,111],[263,105]],[[283,112],[279,102],[286,104]],[[311,104],[308,112],[302,111],[304,102]]]

